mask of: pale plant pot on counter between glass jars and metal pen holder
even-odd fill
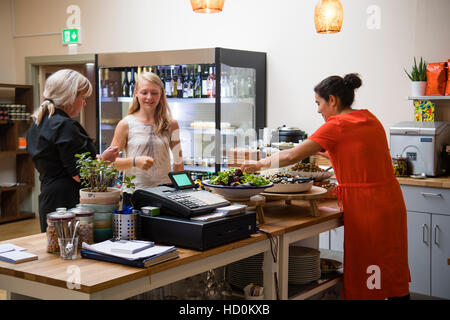
[[[112,214],[119,208],[120,190],[108,188],[106,192],[80,190],[80,203],[95,211],[94,242],[101,242],[113,237]]]

